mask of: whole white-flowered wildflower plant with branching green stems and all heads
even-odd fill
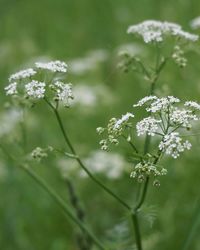
[[[142,250],[139,213],[145,201],[149,183],[152,182],[154,186],[158,187],[160,186],[161,177],[167,174],[168,169],[162,166],[161,161],[165,155],[177,159],[184,151],[191,149],[192,143],[186,137],[189,135],[188,131],[192,129],[193,124],[198,122],[200,118],[200,104],[198,102],[183,101],[171,95],[160,97],[155,94],[156,84],[169,60],[173,60],[180,67],[186,66],[186,48],[191,43],[195,43],[198,36],[184,31],[178,24],[153,20],[130,26],[128,34],[142,38],[146,45],[153,45],[156,49],[155,62],[152,64],[154,66],[146,66],[139,55],[136,57],[132,54],[126,54],[126,60],[121,64],[125,71],[128,71],[130,66],[133,66],[132,68],[140,72],[149,82],[149,87],[146,96],[133,104],[131,111],[118,119],[111,118],[106,127],[97,128],[97,133],[102,137],[100,146],[104,151],[109,151],[112,145],[119,147],[121,140],[125,140],[131,147],[134,160],[131,161],[130,177],[133,181],[136,180],[140,183],[134,204],[128,204],[96,177],[95,171],[90,170],[92,167],[88,168],[87,160],[82,160],[66,132],[66,124],[64,126],[59,107],[61,105],[70,107],[74,95],[71,83],[65,81],[68,70],[65,62],[36,62],[32,68],[11,75],[8,80],[9,84],[5,87],[5,92],[6,95],[12,96],[18,102],[25,103],[28,100],[31,103],[37,103],[43,100],[47,104],[55,115],[67,149],[61,152],[61,150],[53,147],[42,148],[38,145],[31,153],[32,158],[40,161],[48,157],[49,152],[59,151],[63,156],[76,161],[81,170],[94,183],[128,211],[128,217],[131,218],[134,226],[136,249]],[[163,49],[168,40],[173,42],[171,43],[170,52],[166,55],[163,53]],[[142,119],[138,119],[137,110],[142,110],[142,113],[145,113]],[[138,137],[141,140],[138,140]],[[138,146],[138,143],[141,144],[142,141],[144,143],[141,150],[141,145]],[[12,156],[11,158],[13,162],[16,161]],[[92,161],[98,161],[99,156],[93,156],[92,159]],[[74,196],[74,185],[67,176],[65,177],[67,178],[68,190],[71,196],[70,204],[66,203],[42,177],[38,176],[29,167],[29,164],[30,162],[26,161],[25,158],[25,161],[20,162],[19,165],[51,195],[63,209],[65,215],[81,229],[81,237],[84,239],[85,245],[84,248],[80,249],[92,249],[91,242],[98,249],[116,249],[116,247],[113,248],[110,245],[105,246],[89,229],[85,218],[80,216],[80,207],[74,204],[74,199],[78,199],[78,197]],[[90,160],[89,165],[91,164]],[[96,166],[96,168],[99,168],[98,164]]]

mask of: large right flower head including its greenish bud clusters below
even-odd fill
[[[144,108],[149,116],[135,125],[132,123],[135,119],[130,119],[135,117],[132,113],[127,113],[118,120],[112,118],[107,128],[97,128],[100,135],[107,132],[107,138],[100,141],[101,148],[107,150],[110,144],[119,144],[120,137],[124,137],[134,150],[134,170],[131,177],[139,182],[152,177],[155,186],[159,186],[158,178],[167,173],[167,170],[158,164],[160,159],[164,154],[176,159],[182,152],[189,150],[192,145],[188,140],[182,139],[182,131],[189,130],[193,123],[199,120],[200,104],[194,101],[181,103],[181,100],[174,96],[142,98],[133,107]],[[155,138],[152,152],[139,152],[135,145],[137,139],[134,139],[134,133],[137,136],[146,134]]]

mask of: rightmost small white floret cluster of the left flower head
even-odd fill
[[[56,97],[58,100],[63,101],[63,103],[68,106],[69,100],[74,98],[72,93],[72,84],[57,81],[53,83],[52,86],[56,91]]]

